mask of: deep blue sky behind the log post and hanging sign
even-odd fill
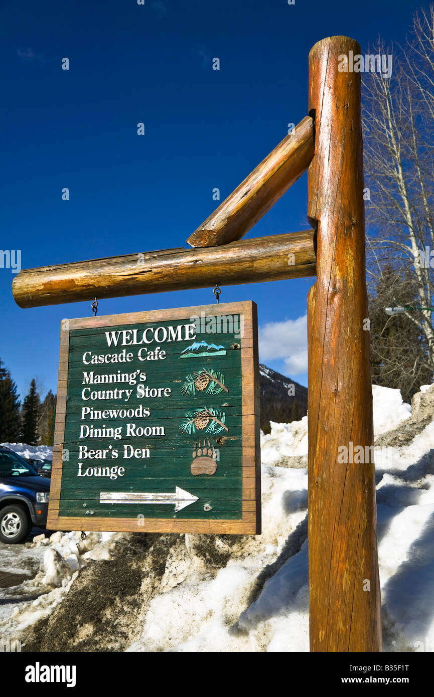
[[[401,42],[418,6],[4,1],[0,249],[21,250],[22,268],[33,268],[187,246],[218,205],[214,187],[223,201],[306,115],[310,47],[338,34],[362,49],[379,33]],[[306,202],[304,175],[248,237],[306,229]],[[60,321],[91,314],[90,302],[20,309],[12,280],[0,268],[0,358],[22,397],[33,376],[56,392]],[[303,384],[312,283],[227,286],[220,296],[257,302],[260,360]],[[211,289],[159,293],[100,301],[99,314],[213,301]]]

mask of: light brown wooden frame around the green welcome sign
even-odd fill
[[[63,446],[66,427],[70,332],[77,329],[115,327],[202,316],[210,307],[214,316],[242,314],[241,350],[242,517],[241,519],[116,518],[59,514]],[[195,359],[194,359],[195,360]],[[175,309],[62,320],[59,355],[57,413],[54,427],[53,466],[47,528],[53,530],[114,530],[153,533],[260,534],[260,396],[255,302],[232,302]],[[167,514],[168,516],[171,514]]]

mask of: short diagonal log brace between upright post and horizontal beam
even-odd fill
[[[305,116],[186,240],[214,247],[239,240],[303,174],[313,158],[313,123]]]

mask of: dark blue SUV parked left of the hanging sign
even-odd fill
[[[0,542],[24,542],[32,526],[47,523],[50,480],[20,455],[0,447]]]

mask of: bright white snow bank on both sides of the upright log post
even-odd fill
[[[411,414],[399,390],[377,385],[373,410],[376,435]],[[386,651],[421,650],[430,635],[434,646],[433,448],[431,422],[410,443],[376,450]],[[128,650],[308,651],[307,472],[299,469],[307,418],[272,422],[261,452],[262,536],[244,541],[244,553],[233,554],[214,578],[187,578],[156,595],[141,638]]]

